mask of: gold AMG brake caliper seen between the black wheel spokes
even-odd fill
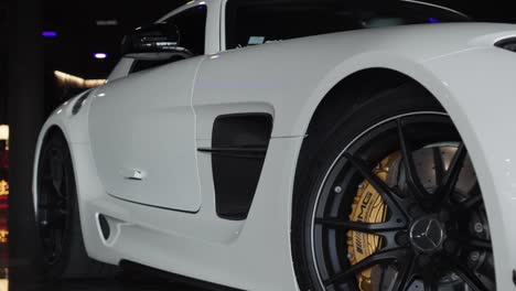
[[[387,157],[374,170],[374,173],[387,181],[389,164],[397,158],[397,154]],[[353,202],[350,220],[361,223],[383,223],[387,218],[387,205],[381,195],[364,180],[356,193]],[[381,237],[355,230],[347,231],[347,252],[351,265],[355,265],[368,256],[376,252],[381,247]],[[358,287],[362,291],[372,291],[372,269],[364,270],[356,274]]]

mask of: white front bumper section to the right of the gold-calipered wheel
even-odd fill
[[[473,50],[427,61],[428,84],[452,117],[481,183],[493,236],[498,290],[516,269],[516,54]]]

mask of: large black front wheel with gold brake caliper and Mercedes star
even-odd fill
[[[467,149],[428,100],[405,85],[343,114],[298,180],[292,249],[303,290],[495,290]]]

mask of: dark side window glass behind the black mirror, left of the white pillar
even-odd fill
[[[178,45],[185,48],[185,55],[187,56],[173,56],[169,60],[160,61],[138,60],[132,64],[129,74],[185,60],[186,57],[203,55],[206,40],[206,18],[207,7],[197,6],[165,20],[166,24],[173,25],[180,33]]]

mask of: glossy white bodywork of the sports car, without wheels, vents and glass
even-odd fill
[[[515,290],[512,270],[516,268],[513,247],[516,245],[513,225],[516,222],[516,127],[513,126],[516,122],[516,54],[493,46],[496,41],[515,35],[516,26],[505,24],[411,25],[213,53],[109,83],[92,91],[76,116],[71,114],[71,107],[77,98],[68,101],[46,121],[36,154],[51,128],[57,127],[65,133],[79,177],[80,218],[90,257],[109,263],[131,260],[244,290],[298,290],[290,252],[291,201],[297,162],[312,116],[325,95],[353,73],[375,67],[394,69],[429,89],[455,122],[484,193],[497,288]],[[184,75],[172,77],[179,68]],[[178,91],[183,94],[174,95]],[[190,99],[184,97],[187,91]],[[140,98],[121,97],[129,93],[137,93]],[[100,94],[120,95],[115,96],[120,101],[103,100]],[[143,94],[150,98],[144,100],[163,108],[178,106],[184,112],[191,110],[180,120],[191,131],[176,129],[185,138],[179,141],[170,134],[169,127],[148,125],[149,131],[154,132],[146,132],[150,136],[131,146],[140,149],[129,151],[123,144],[108,152],[108,141],[115,146],[127,139],[117,137],[118,133],[111,137],[108,128],[127,131],[127,125],[120,121],[129,122],[130,114],[135,114],[121,112],[122,118],[114,121],[120,114],[118,105],[138,104],[142,108],[138,115],[155,112],[153,105],[143,103]],[[181,101],[173,96],[181,96]],[[195,152],[197,148],[211,147],[215,117],[232,112],[268,112],[275,118],[262,174],[245,220],[216,216],[211,157]],[[153,202],[196,209],[195,214],[149,207],[108,195],[116,188],[110,180],[120,177],[116,176],[116,170],[106,170],[116,162],[101,159],[121,154],[115,151],[127,151],[130,155],[148,149],[146,141],[161,139],[171,146],[182,144],[181,151],[189,161],[195,162],[187,172],[169,176],[183,184],[180,187],[184,193],[173,200],[157,196],[160,200]],[[157,153],[146,154],[159,159]],[[121,162],[126,158],[119,159]],[[162,181],[163,185],[169,182]],[[116,229],[107,241],[101,238],[98,214],[106,215]]]

